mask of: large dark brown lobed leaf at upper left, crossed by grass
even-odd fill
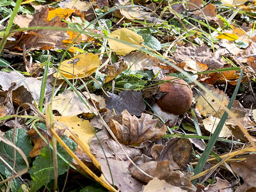
[[[61,22],[59,17],[55,17],[51,21],[47,20],[49,10],[42,7],[38,12],[33,15],[33,19],[29,23],[29,27],[55,27],[55,28],[67,28],[66,22]],[[5,49],[18,49],[18,51],[25,48],[39,49],[39,50],[56,50],[65,49],[66,45],[63,44],[63,40],[68,39],[68,34],[65,31],[47,30],[47,29],[35,29],[28,32],[17,32],[14,35],[14,42],[7,42]]]

